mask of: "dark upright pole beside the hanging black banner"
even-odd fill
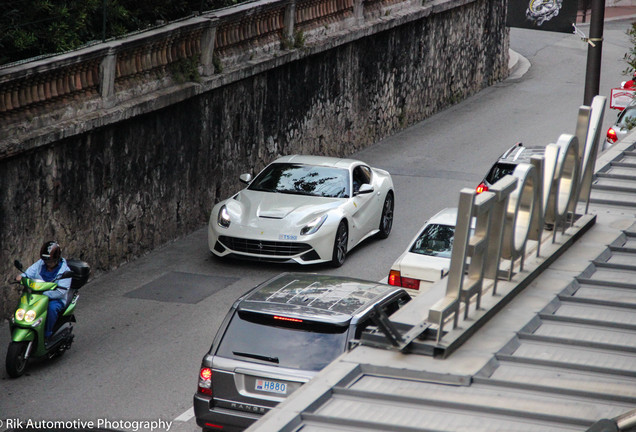
[[[590,106],[594,96],[599,94],[601,80],[601,53],[603,50],[603,22],[605,21],[605,0],[592,0],[590,14],[590,36],[587,47],[587,68],[585,72],[585,96],[583,104]]]

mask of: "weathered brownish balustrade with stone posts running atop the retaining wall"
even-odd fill
[[[180,81],[196,81],[262,54],[300,47],[312,34],[348,28],[364,20],[365,14],[377,17],[383,7],[400,3],[408,5],[409,0],[248,2],[3,67],[0,129],[24,121],[37,128],[46,124],[39,117],[53,110],[62,109],[56,120],[63,120]],[[73,109],[68,109],[69,104]]]

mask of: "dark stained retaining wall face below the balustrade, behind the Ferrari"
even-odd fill
[[[0,313],[17,300],[13,260],[30,264],[46,239],[108,271],[204,226],[240,173],[283,154],[347,156],[507,75],[503,0],[373,16],[0,141]]]

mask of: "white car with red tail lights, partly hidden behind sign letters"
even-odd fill
[[[391,266],[389,285],[415,295],[446,276],[456,224],[457,208],[446,208],[430,218]]]

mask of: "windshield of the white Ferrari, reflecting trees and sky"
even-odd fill
[[[349,197],[349,171],[341,168],[274,163],[265,168],[249,190],[328,198]]]

